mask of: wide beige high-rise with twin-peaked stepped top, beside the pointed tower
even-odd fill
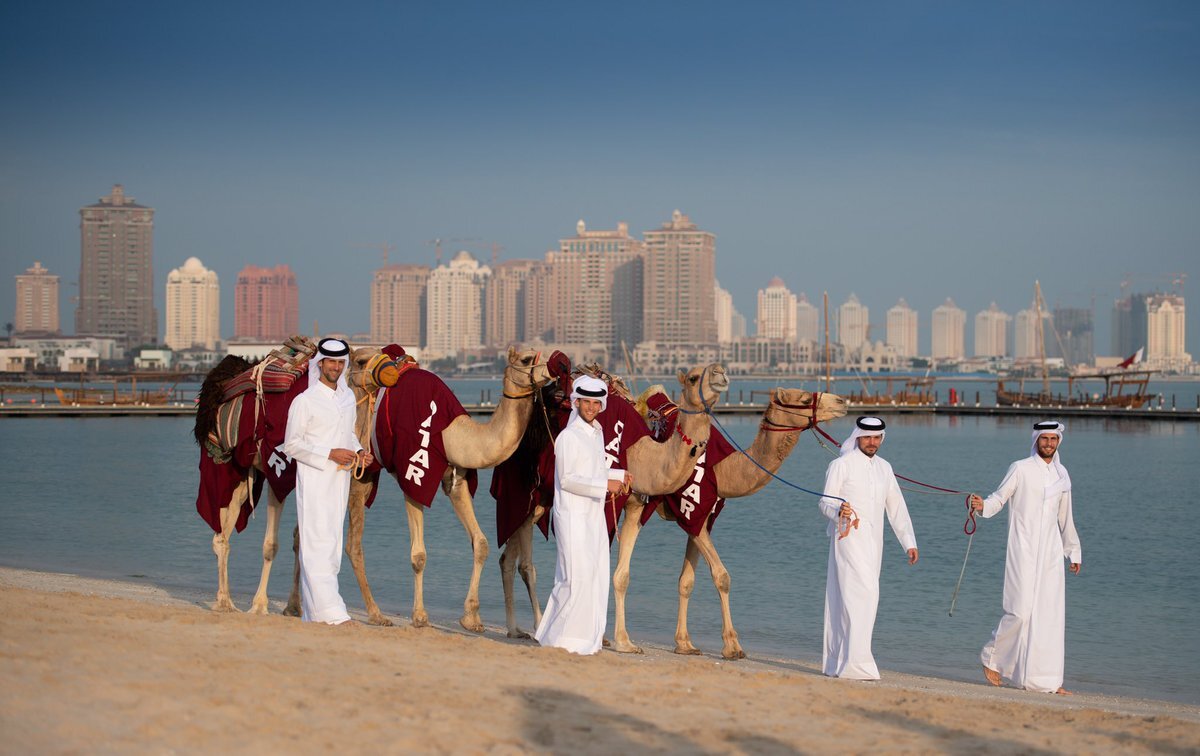
[[[558,252],[546,256],[559,298],[554,338],[608,349],[622,342],[632,349],[642,341],[643,254],[626,223],[614,230],[576,223],[575,235],[560,239]],[[713,286],[709,281],[709,301]]]

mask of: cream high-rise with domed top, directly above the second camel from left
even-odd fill
[[[470,252],[430,271],[426,287],[425,356],[437,360],[484,347],[484,289],[492,269]]]

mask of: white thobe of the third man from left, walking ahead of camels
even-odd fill
[[[887,460],[868,457],[858,449],[838,457],[826,470],[824,492],[850,502],[858,528],[839,540],[841,502],[821,499],[821,514],[832,521],[821,667],[830,677],[877,680],[880,668],[871,653],[871,636],[880,606],[884,514],[906,552],[917,547],[917,536]]]

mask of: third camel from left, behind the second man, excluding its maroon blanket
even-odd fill
[[[588,372],[602,373],[596,368]],[[628,391],[619,378],[608,374],[599,377],[608,380],[613,388],[629,398]],[[647,436],[629,446],[626,460],[629,472],[634,475],[634,496],[625,502],[624,517],[628,523],[631,518],[640,521],[644,508],[642,496],[661,496],[678,491],[691,475],[695,466],[697,448],[708,443],[709,415],[704,413],[706,407],[712,407],[720,398],[721,391],[728,389],[730,380],[725,374],[725,367],[718,364],[707,367],[694,367],[690,371],[679,371],[680,400],[679,406],[684,413],[678,420],[680,432],[672,433],[671,438],[656,442]],[[541,623],[541,606],[538,601],[538,575],[533,565],[533,526],[545,512],[542,504],[534,508],[528,520],[514,533],[504,545],[500,554],[500,572],[504,580],[504,608],[508,622],[509,637],[528,638],[529,634],[521,630],[516,623],[514,610],[514,570],[520,571],[526,588],[529,592],[529,604],[533,606],[534,626]],[[629,558],[632,554],[634,540],[625,538],[626,528],[622,526],[620,539],[620,566],[613,575],[613,583],[629,584]],[[617,613],[624,616],[625,594],[624,589],[617,592]],[[628,636],[626,636],[628,641]]]

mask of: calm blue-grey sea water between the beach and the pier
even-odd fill
[[[460,395],[473,398],[469,390]],[[756,430],[752,419],[721,422],[743,445]],[[1028,454],[1024,418],[894,416],[888,422],[881,455],[900,474],[948,488],[986,494],[1009,462]],[[829,431],[840,438],[848,425],[841,420]],[[215,593],[212,533],[194,511],[199,452],[190,430],[184,418],[0,420],[0,563]],[[1068,421],[1062,455],[1075,485],[1084,544],[1082,574],[1067,577],[1068,686],[1200,703],[1200,528],[1192,512],[1200,488],[1198,442],[1200,425],[1193,422]],[[805,433],[781,475],[820,488],[830,458]],[[476,509],[493,535],[487,484],[484,472]],[[367,565],[383,610],[407,617],[407,524],[398,487],[384,486],[367,517]],[[979,679],[979,648],[1000,617],[1006,516],[980,521],[952,618],[947,610],[967,542],[962,497],[906,497],[920,562],[907,566],[899,542],[887,536],[876,659],[884,674]],[[294,523],[288,505],[281,526],[286,544]],[[234,542],[230,577],[242,608],[257,586],[264,527],[265,516],[256,517]],[[824,528],[814,497],[778,482],[731,502],[718,521],[714,538],[733,578],[734,624],[751,656],[820,658]],[[426,602],[434,622],[452,624],[470,556],[444,497],[426,518]],[[535,550],[545,601],[554,544],[539,538]],[[672,644],[683,552],[684,534],[674,523],[654,518],[642,532],[628,604],[635,641]],[[504,622],[498,554],[493,542],[480,595],[490,625]],[[272,599],[287,598],[290,570],[286,554],[272,575]],[[361,607],[349,564],[342,594]],[[528,601],[518,598],[517,608],[521,625],[532,629]],[[700,648],[720,652],[720,607],[703,568],[689,625]]]

